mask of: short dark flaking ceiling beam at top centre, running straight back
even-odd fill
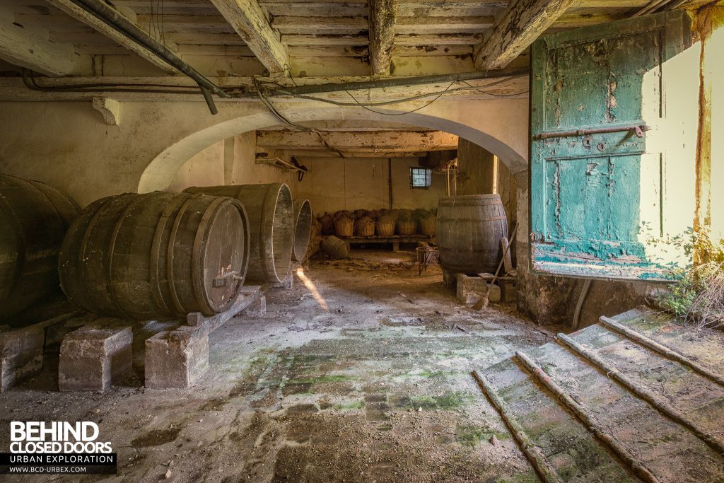
[[[390,75],[397,0],[369,0],[369,63],[372,75]]]

